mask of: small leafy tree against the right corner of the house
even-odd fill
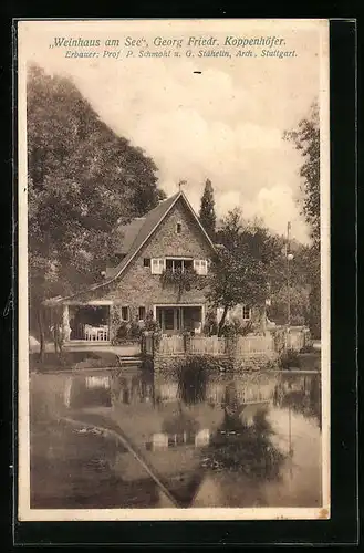
[[[221,335],[228,311],[239,303],[263,306],[269,291],[269,265],[277,254],[273,237],[267,229],[243,225],[235,209],[222,220],[219,252],[212,261],[208,300],[223,307],[218,335]]]

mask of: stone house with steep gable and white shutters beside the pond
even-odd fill
[[[200,333],[208,311],[204,281],[216,248],[185,194],[160,201],[118,232],[119,262],[106,269],[103,281],[48,301],[62,306],[64,343],[108,343],[123,323],[142,323],[150,313],[164,334]]]

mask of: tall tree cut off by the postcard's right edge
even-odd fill
[[[310,250],[310,328],[313,337],[321,335],[321,278],[320,278],[320,118],[319,106],[311,106],[309,117],[304,117],[298,129],[285,132],[284,138],[291,140],[302,153],[303,163],[300,175],[302,182],[302,211],[311,229]]]

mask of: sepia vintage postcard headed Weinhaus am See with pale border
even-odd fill
[[[329,21],[17,28],[19,520],[329,519]]]

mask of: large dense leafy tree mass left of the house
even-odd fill
[[[97,281],[117,221],[163,195],[154,161],[113,133],[70,80],[31,66],[27,109],[31,321],[43,344],[42,301]]]

